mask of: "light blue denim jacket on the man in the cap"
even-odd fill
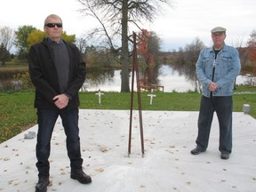
[[[213,65],[215,65],[215,72],[212,81]],[[218,88],[215,92],[212,92],[212,96],[231,96],[240,69],[239,53],[234,47],[224,44],[216,60],[213,48],[204,48],[196,62],[196,76],[199,82],[203,84],[203,95],[210,97],[208,86],[211,82],[214,82]]]

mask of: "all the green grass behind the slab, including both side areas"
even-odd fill
[[[246,91],[237,89],[238,92]],[[197,92],[155,92],[153,104],[149,104],[148,92],[141,93],[143,110],[198,111],[201,95]],[[81,107],[85,109],[130,109],[131,93],[105,92],[99,104],[95,92],[81,92]],[[36,124],[33,108],[34,92],[0,93],[0,143]],[[138,108],[134,93],[134,109]],[[251,105],[249,115],[256,118],[256,94],[235,94],[234,111],[242,112],[244,103]]]

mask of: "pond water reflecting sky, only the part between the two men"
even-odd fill
[[[195,70],[190,71],[175,70],[169,65],[161,65],[157,72],[140,71],[140,82],[147,78],[150,84],[159,84],[164,86],[164,92],[188,92],[196,90]],[[155,76],[152,76],[154,74]],[[188,74],[188,75],[187,75]],[[191,75],[193,74],[193,75]],[[132,72],[130,73],[132,76]],[[147,77],[146,77],[147,76]],[[130,78],[130,88],[132,78]],[[136,87],[136,84],[135,84]],[[102,92],[120,92],[121,89],[121,70],[113,70],[101,74],[89,73],[86,77],[83,92],[96,92],[100,89]]]

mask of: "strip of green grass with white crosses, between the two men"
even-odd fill
[[[154,92],[156,97],[150,105],[148,92],[141,92],[141,108],[143,110],[198,110],[198,103],[201,95],[195,92]],[[133,109],[138,109],[138,94],[133,95]],[[98,95],[95,92],[80,93],[80,108],[97,109],[130,109],[131,93],[105,92],[101,96],[101,105]]]

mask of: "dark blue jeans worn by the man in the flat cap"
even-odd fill
[[[232,151],[232,96],[225,97],[204,97],[201,98],[200,111],[198,116],[198,135],[196,144],[198,148],[205,151],[208,147],[209,136],[212,126],[213,113],[216,112],[220,126],[220,152]]]

